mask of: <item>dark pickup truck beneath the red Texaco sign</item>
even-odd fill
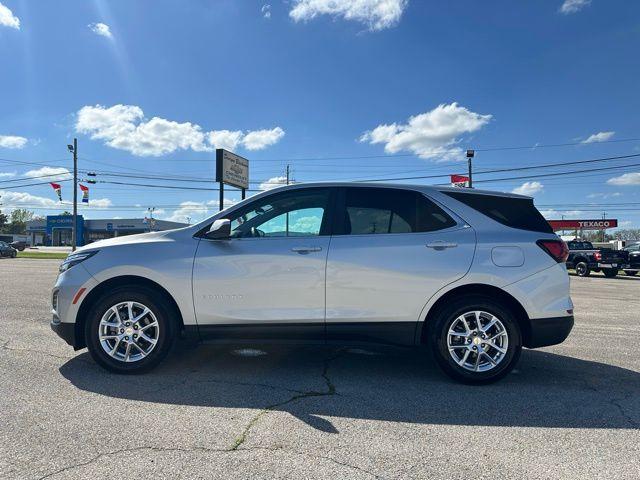
[[[567,247],[567,268],[574,268],[579,277],[602,271],[605,277],[613,278],[629,264],[629,253],[623,250],[593,248],[591,242],[580,241],[567,242]]]

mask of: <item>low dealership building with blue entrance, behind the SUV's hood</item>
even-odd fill
[[[27,235],[31,245],[71,245],[72,215],[48,215],[45,219],[27,222]],[[186,227],[186,223],[145,218],[112,218],[85,220],[78,215],[77,245],[86,245],[105,238],[120,237],[151,231]]]

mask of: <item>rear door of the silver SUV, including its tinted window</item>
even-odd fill
[[[341,189],[327,259],[327,340],[413,344],[429,298],[468,271],[472,228],[420,192]]]

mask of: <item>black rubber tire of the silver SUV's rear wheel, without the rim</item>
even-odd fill
[[[490,313],[500,319],[508,338],[506,353],[501,361],[487,371],[470,371],[460,366],[449,353],[447,344],[449,328],[454,321],[459,316],[476,310]],[[455,299],[436,313],[429,327],[428,343],[444,373],[463,383],[483,385],[500,380],[513,370],[520,359],[522,334],[518,321],[506,305],[484,295],[469,295]]]

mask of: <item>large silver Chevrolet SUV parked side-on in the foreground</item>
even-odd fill
[[[60,267],[51,327],[119,373],[156,366],[182,334],[426,347],[453,378],[487,383],[523,346],[569,335],[567,255],[529,197],[294,185],[78,249]]]

